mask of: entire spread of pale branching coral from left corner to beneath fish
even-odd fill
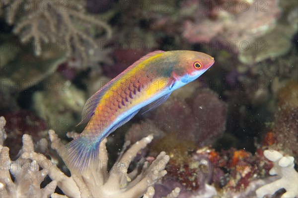
[[[51,147],[59,153],[59,148],[64,144],[53,130],[49,131],[49,136],[52,142]],[[68,136],[75,138],[78,133],[70,132]],[[71,177],[68,177],[44,154],[36,153],[32,137],[24,134],[23,146],[19,158],[15,161],[10,161],[9,148],[0,145],[1,198],[48,198],[50,196],[52,198],[123,198],[142,197],[143,195],[152,198],[154,196],[152,186],[166,174],[164,168],[169,161],[169,156],[165,152],[161,152],[151,164],[148,161],[139,163],[135,170],[127,173],[128,167],[138,151],[146,147],[152,138],[152,135],[144,137],[127,150],[129,142],[126,142],[110,171],[107,170],[108,154],[105,145],[107,139],[104,139],[99,146],[100,164],[97,170],[84,175],[72,174]],[[15,178],[14,181],[10,174]],[[47,175],[52,182],[40,189],[40,184]],[[56,187],[59,187],[65,195],[54,193]],[[28,189],[30,190],[28,191]],[[176,198],[179,192],[180,189],[175,188],[168,198]]]

